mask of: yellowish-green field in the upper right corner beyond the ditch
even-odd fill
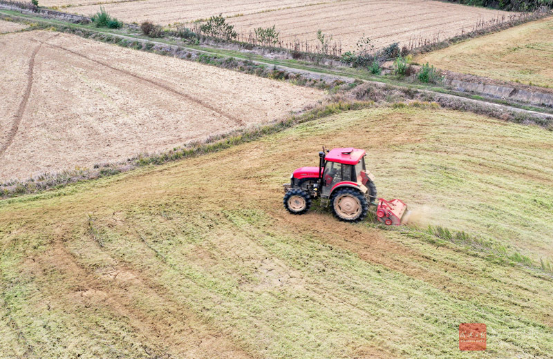
[[[525,23],[415,59],[504,81],[553,86],[553,17]]]

